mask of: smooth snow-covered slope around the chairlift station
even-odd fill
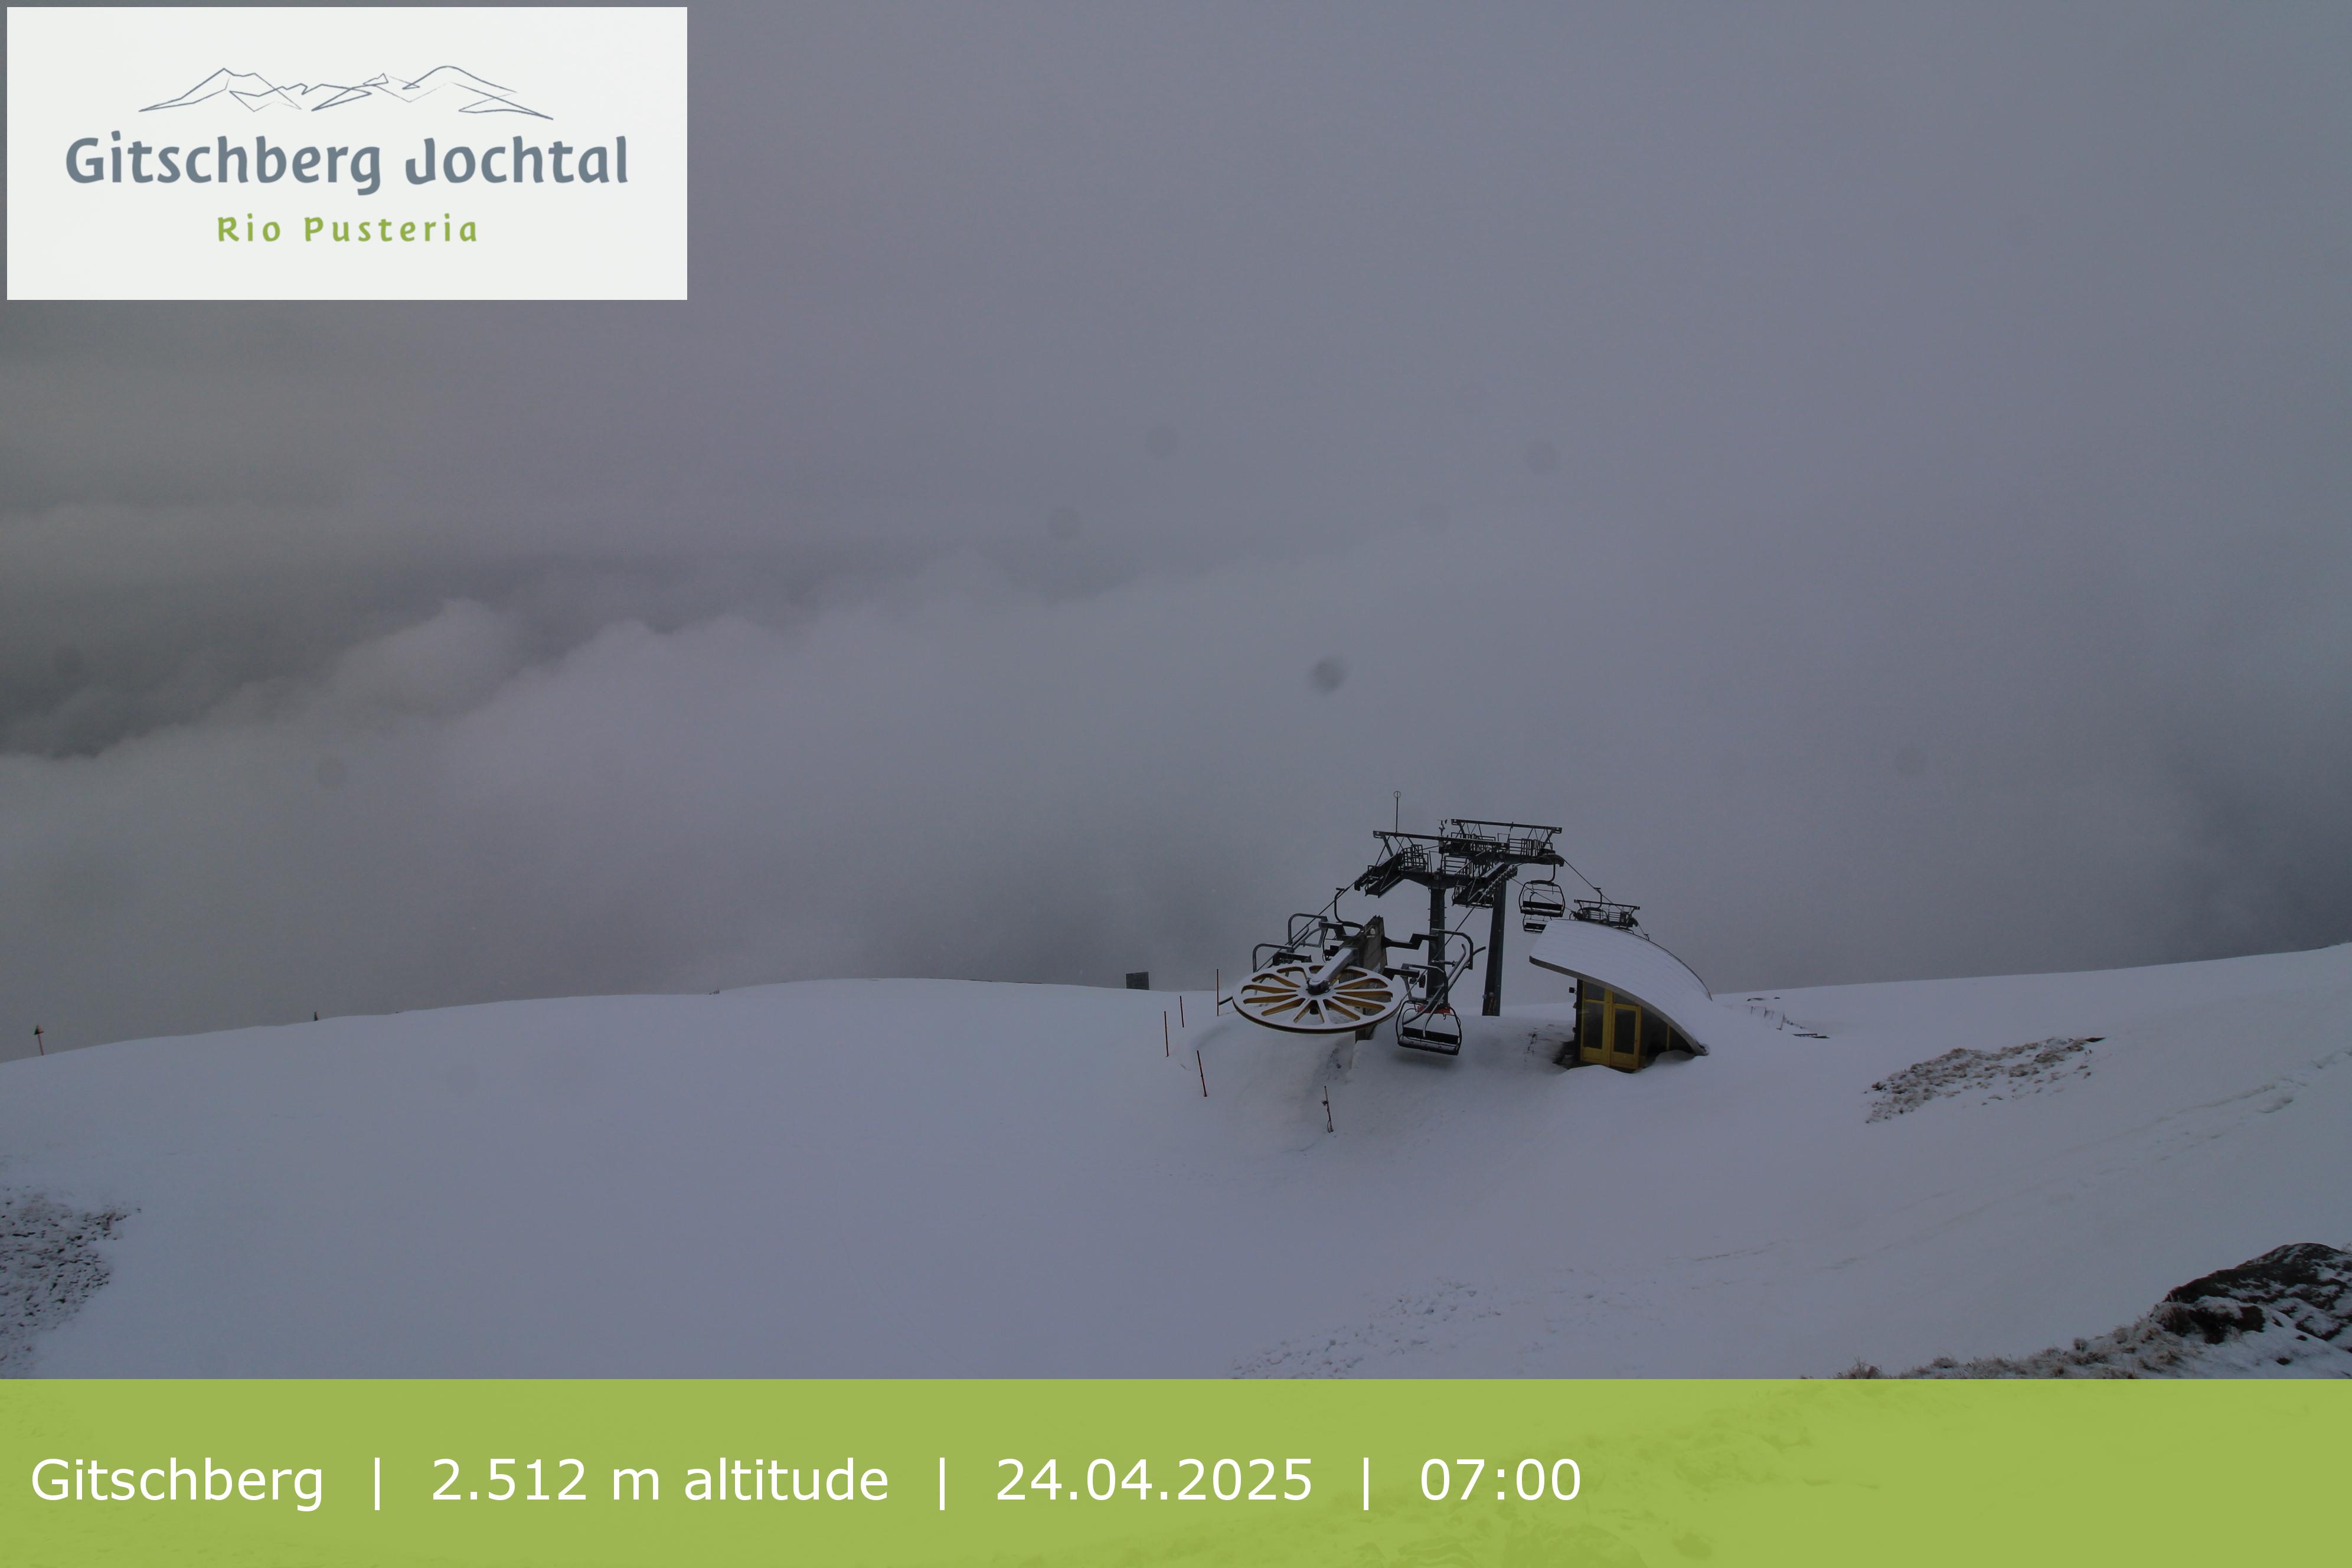
[[[1162,1006],[807,983],[7,1063],[0,1192],[127,1213],[31,1363],[1837,1373],[2352,1237],[2352,947],[1785,992],[1788,1030],[1642,1074],[1562,1072],[1557,1011],[1437,1060],[1200,994],[1162,1056]],[[2037,1093],[1867,1119],[1903,1067],[2060,1037],[2100,1039]]]

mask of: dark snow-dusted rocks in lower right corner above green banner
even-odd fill
[[[2096,1340],[2032,1356],[1938,1356],[1905,1378],[2352,1378],[2352,1253],[2296,1241],[2166,1293]],[[1884,1378],[1856,1363],[1846,1378]]]

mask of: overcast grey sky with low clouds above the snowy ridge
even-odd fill
[[[1719,987],[2352,938],[2352,16],[1910,12],[696,5],[687,306],[5,306],[0,1053],[1204,985],[1390,790]]]

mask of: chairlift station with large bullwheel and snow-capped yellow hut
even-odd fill
[[[1637,905],[1611,903],[1597,886],[1592,898],[1578,898],[1571,905],[1555,877],[1557,867],[1569,867],[1555,849],[1559,827],[1446,818],[1437,832],[1388,827],[1376,830],[1374,837],[1381,839],[1381,858],[1367,865],[1350,886],[1334,893],[1322,910],[1291,914],[1284,940],[1258,943],[1249,978],[1232,992],[1232,1006],[1242,1018],[1291,1034],[1355,1034],[1355,1039],[1371,1039],[1374,1030],[1395,1020],[1399,1046],[1458,1056],[1463,1025],[1454,1009],[1454,992],[1482,952],[1486,957],[1486,987],[1479,1013],[1486,1018],[1503,1013],[1503,936],[1512,907],[1510,884],[1526,867],[1543,875],[1519,886],[1517,907],[1524,931],[1543,933],[1550,922],[1571,917],[1597,929],[1595,936],[1606,931],[1609,938],[1632,943],[1635,950],[1651,950],[1682,966],[1637,929]],[[1341,896],[1350,891],[1381,898],[1406,882],[1430,893],[1430,924],[1418,936],[1397,940],[1388,936],[1385,919],[1378,914],[1369,922],[1350,922],[1338,912]],[[1470,940],[1468,931],[1446,924],[1449,905],[1465,912],[1465,924],[1470,910],[1491,910],[1484,950]],[[1590,964],[1592,969],[1618,966],[1609,961],[1609,954],[1616,952],[1616,940],[1609,938],[1602,938],[1604,961]],[[1421,961],[1390,964],[1390,954],[1397,950],[1418,952]],[[1576,1060],[1632,1072],[1668,1048],[1705,1051],[1661,1009],[1644,1006],[1632,992],[1621,994],[1602,978],[1550,964],[1543,957],[1536,961],[1571,973],[1578,983]],[[1682,973],[1689,976],[1689,969]],[[1698,976],[1689,976],[1689,980],[1696,985]],[[1705,997],[1703,985],[1698,985],[1698,994]]]

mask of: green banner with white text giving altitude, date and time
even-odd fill
[[[80,1563],[2044,1563],[2340,1549],[2324,1382],[0,1382]]]

